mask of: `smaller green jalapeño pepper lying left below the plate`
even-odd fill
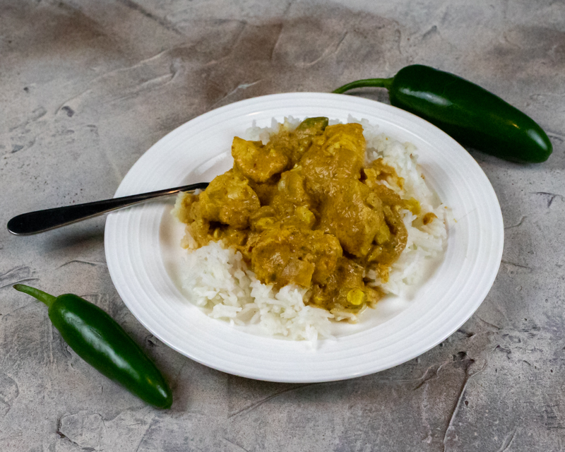
[[[105,311],[77,295],[54,297],[23,284],[13,287],[47,304],[55,328],[88,364],[145,402],[170,408],[172,392],[160,371]]]

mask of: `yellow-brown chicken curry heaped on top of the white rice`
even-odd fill
[[[406,246],[400,210],[434,215],[388,188],[404,182],[393,167],[365,166],[365,148],[360,124],[323,117],[280,126],[266,145],[235,137],[234,167],[185,194],[179,218],[198,247],[222,240],[240,251],[262,283],[308,287],[309,304],[355,313],[383,296],[367,271],[386,282]]]

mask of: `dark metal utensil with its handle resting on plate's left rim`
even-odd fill
[[[179,191],[206,189],[207,186],[208,182],[198,182],[197,184],[178,186],[176,189],[157,190],[151,191],[150,193],[106,199],[105,201],[94,201],[93,203],[76,204],[75,206],[64,206],[22,213],[8,221],[8,231],[16,235],[37,234],[38,232],[70,225],[71,223],[107,213],[110,210],[131,206],[132,204],[141,203],[142,201],[157,198],[158,196],[172,195],[179,193]]]

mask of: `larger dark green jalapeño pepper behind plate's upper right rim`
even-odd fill
[[[552,143],[526,114],[475,83],[415,64],[393,78],[347,83],[334,93],[374,86],[388,90],[391,104],[435,124],[462,144],[518,162],[545,162]]]

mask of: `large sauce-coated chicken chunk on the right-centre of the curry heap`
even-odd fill
[[[348,253],[364,257],[383,222],[379,197],[362,182],[343,179],[335,182],[335,191],[321,205],[319,229],[338,237]]]

